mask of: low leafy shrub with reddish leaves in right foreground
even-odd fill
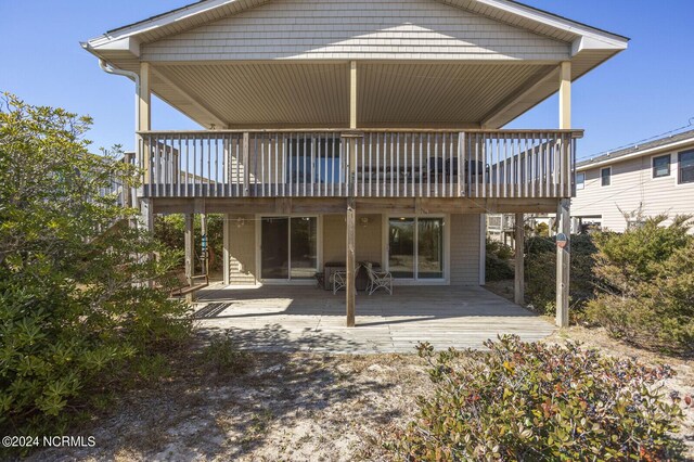
[[[420,345],[437,385],[416,420],[386,444],[404,460],[672,460],[679,407],[664,401],[668,368],[575,344],[505,336],[489,352]]]

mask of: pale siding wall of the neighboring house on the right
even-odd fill
[[[694,183],[678,182],[678,154],[683,151],[686,149],[670,153],[669,177],[653,178],[650,155],[612,164],[609,188],[601,187],[600,167],[584,170],[586,188],[571,201],[571,215],[602,217],[603,228],[621,232],[627,228],[622,211],[631,213],[640,206],[646,216],[694,214]]]

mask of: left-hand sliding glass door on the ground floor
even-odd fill
[[[312,279],[318,271],[317,217],[264,217],[260,220],[260,277]]]

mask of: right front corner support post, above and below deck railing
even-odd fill
[[[560,65],[560,129],[571,128],[571,63]],[[560,200],[556,232],[566,236],[564,248],[556,246],[556,325],[568,326],[569,268],[571,252],[570,197]]]

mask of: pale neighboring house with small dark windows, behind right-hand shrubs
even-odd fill
[[[571,215],[583,228],[621,232],[658,214],[694,214],[694,130],[577,164]]]

